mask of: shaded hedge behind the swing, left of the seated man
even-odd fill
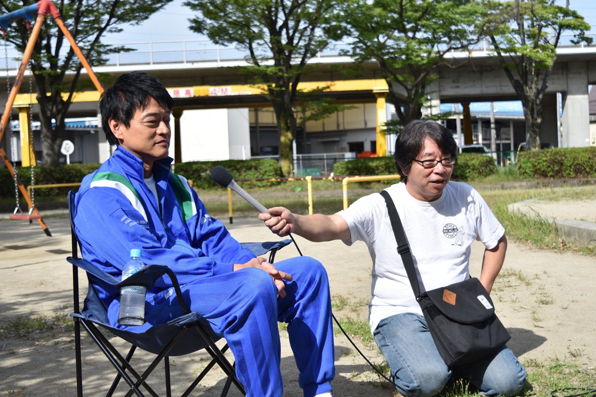
[[[69,184],[81,182],[85,175],[94,172],[98,168],[100,168],[99,164],[69,164],[58,167],[39,166],[33,168],[33,173],[36,185]],[[25,187],[31,184],[31,169],[29,167],[17,167],[17,173]],[[66,197],[69,190],[76,191],[77,187],[36,188],[35,196]],[[6,168],[0,169],[0,197],[14,197],[13,176]]]

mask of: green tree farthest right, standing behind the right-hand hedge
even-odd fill
[[[590,26],[576,11],[555,4],[555,0],[495,2],[492,19],[499,26],[491,35],[496,57],[522,100],[526,119],[526,148],[540,148],[542,98],[557,58],[561,33],[574,32],[573,44],[592,43],[585,35]]]

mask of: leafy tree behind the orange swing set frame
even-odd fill
[[[117,33],[122,24],[138,24],[171,0],[70,0],[57,1],[61,17],[91,66],[105,63],[105,55],[125,51],[120,46],[101,43],[104,33]],[[6,13],[34,4],[31,0],[0,0]],[[23,52],[29,41],[25,20],[15,22],[16,29],[8,29],[7,41]],[[60,146],[66,138],[64,119],[76,91],[91,88],[89,80],[81,80],[83,69],[75,52],[47,15],[35,43],[30,61],[37,89],[39,119],[42,128],[44,165],[56,166],[60,160]],[[67,95],[62,95],[66,92]],[[55,123],[52,123],[55,119]]]

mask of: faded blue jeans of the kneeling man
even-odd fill
[[[516,395],[526,382],[526,370],[507,346],[493,357],[449,368],[434,345],[426,320],[418,314],[384,318],[374,339],[391,368],[396,389],[408,397],[439,394],[452,371],[486,396]]]

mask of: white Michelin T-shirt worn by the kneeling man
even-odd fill
[[[402,221],[421,292],[466,280],[470,277],[474,239],[492,249],[505,233],[470,185],[449,182],[441,197],[430,202],[416,200],[403,182],[386,190]],[[383,318],[408,312],[422,314],[397,252],[383,197],[377,193],[362,197],[338,214],[350,227],[351,240],[344,243],[364,241],[373,259],[371,331]]]

